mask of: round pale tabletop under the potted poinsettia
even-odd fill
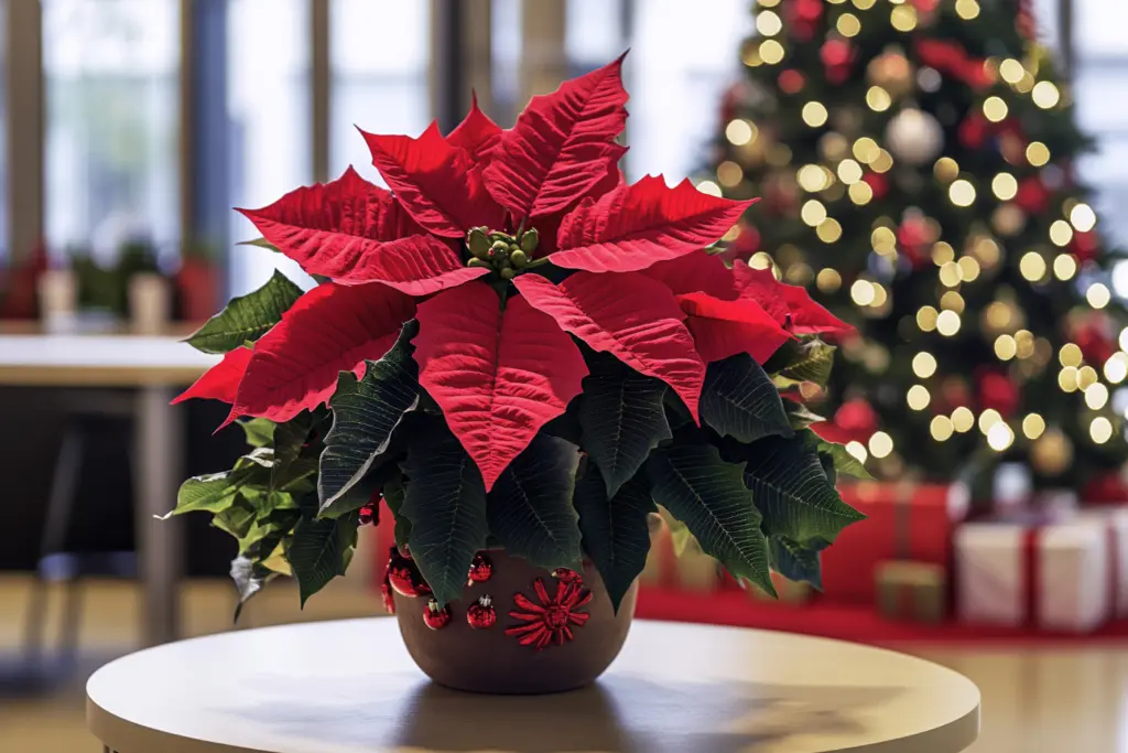
[[[979,691],[883,649],[637,621],[591,688],[474,695],[430,683],[395,620],[372,619],[126,656],[90,677],[87,719],[118,753],[957,753],[978,734]]]

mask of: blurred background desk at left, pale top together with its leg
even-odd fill
[[[177,520],[155,520],[176,505],[182,481],[180,411],[169,401],[219,360],[174,338],[0,334],[0,385],[136,389],[134,510],[149,645],[176,638],[182,569]]]

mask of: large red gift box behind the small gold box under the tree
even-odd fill
[[[966,485],[861,482],[839,491],[867,518],[847,526],[822,552],[827,599],[873,604],[878,567],[889,560],[950,570],[952,532],[968,514]]]

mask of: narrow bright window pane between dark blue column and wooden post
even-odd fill
[[[227,23],[231,200],[265,207],[312,181],[308,0],[229,0]],[[231,240],[258,237],[231,212]],[[230,251],[230,288],[243,295],[275,269],[309,282],[297,263],[266,248]]]

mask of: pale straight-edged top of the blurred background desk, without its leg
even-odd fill
[[[0,334],[0,385],[180,385],[219,359],[173,336]]]

